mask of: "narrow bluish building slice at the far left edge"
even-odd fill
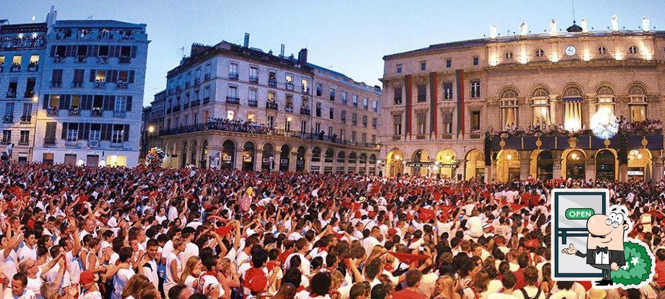
[[[0,26],[0,109],[2,152],[15,161],[32,159],[36,95],[42,86],[46,23]]]

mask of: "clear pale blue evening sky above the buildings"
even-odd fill
[[[308,48],[308,61],[339,71],[371,86],[381,85],[384,55],[431,44],[482,38],[491,24],[504,36],[519,33],[526,21],[532,33],[543,33],[551,19],[559,28],[572,24],[571,0],[326,0],[326,1],[161,1],[161,0],[8,0],[1,1],[0,19],[10,24],[44,21],[51,5],[58,19],[116,19],[147,24],[148,65],[143,104],[166,88],[166,73],[189,55],[194,42],[214,45],[222,40],[263,51],[297,56]],[[637,30],[650,18],[665,30],[663,0],[577,0],[576,19],[589,28],[606,30],[616,14],[619,27]]]

